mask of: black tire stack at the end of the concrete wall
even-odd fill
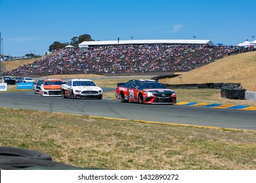
[[[221,88],[221,97],[226,99],[245,99],[245,89],[242,88]]]

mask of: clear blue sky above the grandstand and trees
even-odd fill
[[[236,45],[256,36],[255,0],[0,0],[3,53],[45,54],[54,41],[207,39]],[[255,38],[254,38],[255,39]]]

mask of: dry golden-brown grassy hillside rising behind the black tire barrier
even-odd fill
[[[200,84],[207,82],[238,82],[248,91],[256,92],[256,52],[247,52],[219,59],[176,78],[160,80],[165,84]]]

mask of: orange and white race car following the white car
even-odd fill
[[[46,79],[41,85],[40,94],[45,96],[62,96],[61,86],[63,84],[62,79]]]

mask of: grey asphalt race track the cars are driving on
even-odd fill
[[[63,99],[41,97],[33,92],[0,93],[0,107],[256,131],[256,110],[140,105],[121,103],[117,99]]]

